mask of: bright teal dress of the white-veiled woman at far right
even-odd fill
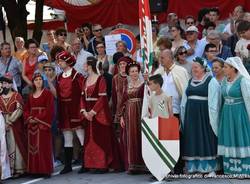
[[[225,174],[250,175],[250,121],[243,98],[242,76],[223,80],[223,107],[218,129],[218,154]],[[249,102],[247,102],[249,104]]]

